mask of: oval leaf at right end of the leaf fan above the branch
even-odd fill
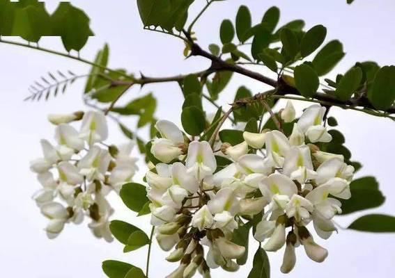
[[[313,59],[313,67],[318,76],[330,72],[344,57],[343,44],[339,40],[332,40],[323,47]]]

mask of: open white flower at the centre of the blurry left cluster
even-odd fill
[[[93,181],[94,179],[104,181],[104,174],[108,170],[110,161],[111,156],[107,149],[101,149],[95,145],[78,162],[77,167],[79,173],[84,175],[88,181]]]

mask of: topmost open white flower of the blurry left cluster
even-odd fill
[[[88,111],[82,117],[79,137],[86,140],[89,146],[102,142],[108,137],[107,120],[101,111]]]

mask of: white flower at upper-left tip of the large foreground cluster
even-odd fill
[[[183,132],[176,124],[167,120],[159,120],[155,124],[162,138],[155,139],[150,152],[164,163],[169,163],[173,159],[183,154],[180,146],[184,145]]]

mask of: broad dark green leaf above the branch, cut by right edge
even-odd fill
[[[385,66],[378,70],[371,90],[368,92],[371,104],[381,110],[387,110],[395,101],[395,66]]]

